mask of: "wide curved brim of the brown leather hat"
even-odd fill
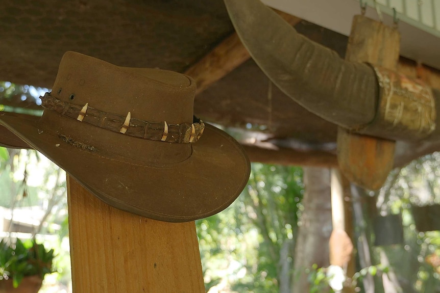
[[[166,222],[205,218],[229,206],[250,174],[245,151],[226,132],[205,124],[184,162],[152,167],[96,155],[38,129],[38,119],[5,113],[0,124],[40,151],[104,202]],[[233,173],[233,174],[231,174]]]

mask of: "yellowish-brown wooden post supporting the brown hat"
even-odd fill
[[[74,292],[205,292],[194,222],[113,208],[69,176],[67,197]]]

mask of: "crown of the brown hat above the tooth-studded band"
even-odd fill
[[[77,52],[61,60],[52,95],[121,116],[170,124],[192,123],[195,83],[183,74],[119,67]]]

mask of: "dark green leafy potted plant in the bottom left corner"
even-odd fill
[[[41,280],[46,274],[53,273],[54,250],[46,250],[35,239],[22,242],[17,239],[15,245],[5,239],[0,242],[0,280],[12,279],[16,288],[23,277],[38,276]]]

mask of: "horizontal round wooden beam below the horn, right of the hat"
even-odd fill
[[[337,167],[335,154],[326,151],[299,151],[289,148],[264,148],[241,144],[251,162],[290,166]]]

